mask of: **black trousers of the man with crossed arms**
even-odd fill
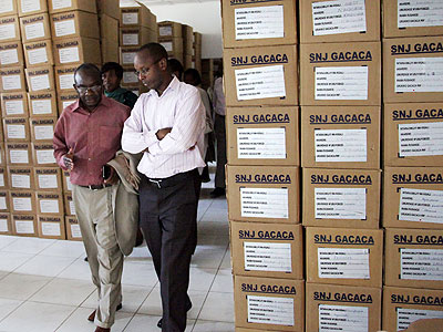
[[[161,284],[162,331],[183,332],[190,257],[197,245],[197,207],[200,191],[197,169],[158,184],[143,177],[140,186],[140,226],[153,257]]]

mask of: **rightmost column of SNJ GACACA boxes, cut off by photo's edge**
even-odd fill
[[[443,330],[442,2],[383,2],[383,329]]]

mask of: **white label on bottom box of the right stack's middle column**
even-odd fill
[[[319,304],[319,332],[369,332],[369,309]]]

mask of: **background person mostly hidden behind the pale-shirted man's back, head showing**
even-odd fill
[[[208,183],[210,181],[209,178],[209,167],[207,163],[215,162],[215,151],[214,151],[214,136],[212,133],[214,132],[214,124],[213,124],[213,107],[210,105],[209,95],[206,91],[200,87],[202,84],[202,76],[195,69],[188,69],[185,71],[183,81],[187,84],[194,85],[198,89],[200,93],[203,105],[206,110],[206,128],[205,128],[205,163],[206,166],[203,168],[202,172],[202,181]]]

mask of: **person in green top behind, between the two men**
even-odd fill
[[[137,95],[120,86],[123,79],[123,68],[116,62],[106,62],[102,66],[104,95],[128,106],[131,110],[137,101]]]

